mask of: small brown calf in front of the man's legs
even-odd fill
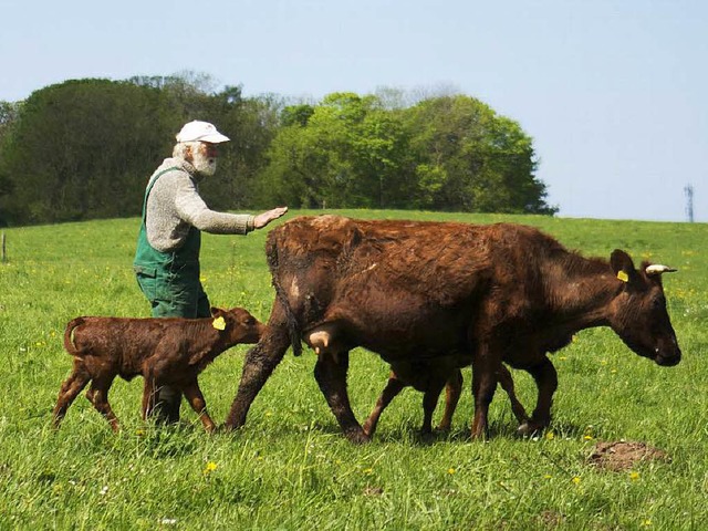
[[[207,431],[215,424],[199,389],[197,375],[219,354],[238,343],[256,343],[264,326],[241,308],[211,309],[212,317],[76,317],[64,332],[64,348],[74,356],[74,368],[62,384],[54,426],[74,398],[91,382],[86,397],[114,431],[118,419],[108,404],[116,376],[145,378],[143,418],[155,407],[155,392],[169,385],[185,394]]]

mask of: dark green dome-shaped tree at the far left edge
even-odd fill
[[[0,167],[1,198],[17,222],[137,214],[142,190],[171,132],[153,88],[107,80],[69,81],[24,102]]]

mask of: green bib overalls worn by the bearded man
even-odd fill
[[[147,185],[133,269],[154,317],[208,317],[211,314],[209,299],[199,281],[201,232],[191,227],[185,243],[171,252],[158,251],[147,241],[147,198],[157,179],[174,170],[181,168],[167,168]]]

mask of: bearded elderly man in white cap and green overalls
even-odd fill
[[[210,315],[209,299],[199,281],[202,230],[247,235],[288,211],[288,207],[280,207],[251,216],[217,212],[207,207],[198,185],[215,174],[217,146],[228,139],[212,124],[189,122],[177,134],[171,158],[166,158],[147,183],[133,266],[154,317]],[[157,391],[157,406],[152,414],[159,420],[176,423],[180,402],[178,392],[163,387]]]

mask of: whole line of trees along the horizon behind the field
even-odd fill
[[[473,97],[388,90],[303,103],[189,74],[71,80],[0,102],[0,223],[139,215],[147,178],[190,119],[231,138],[201,187],[216,209],[558,210],[531,137]]]

